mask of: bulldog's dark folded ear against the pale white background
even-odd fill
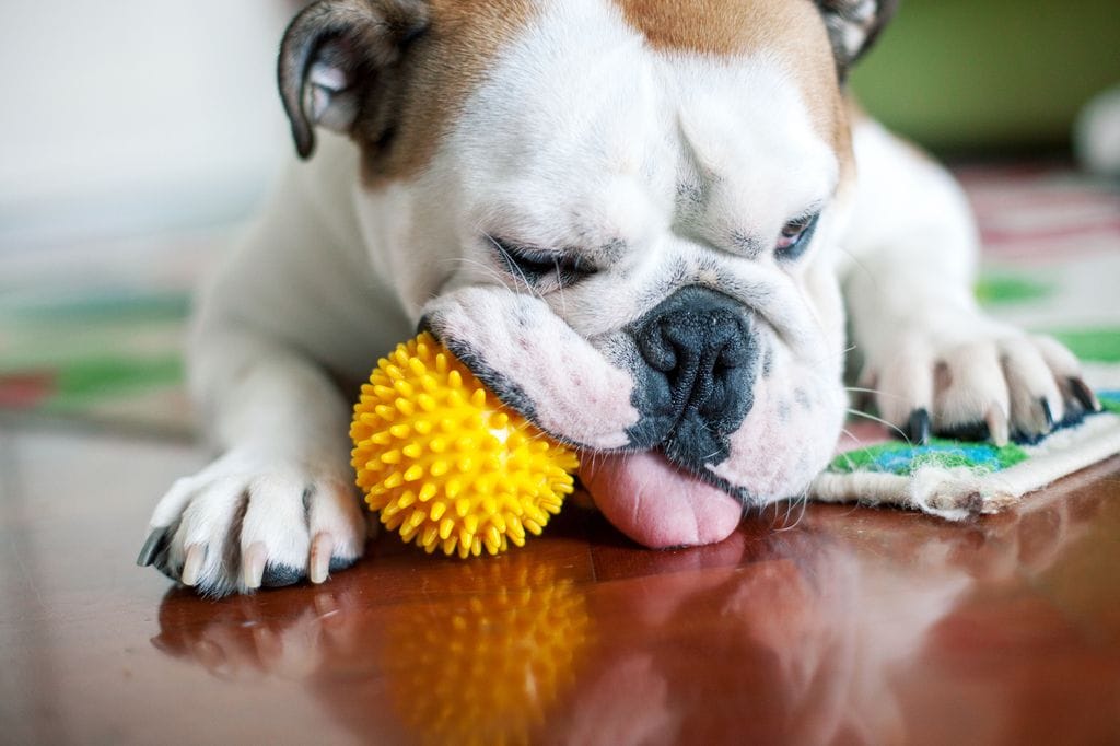
[[[315,149],[315,125],[349,133],[372,86],[392,75],[428,27],[423,0],[320,0],[288,26],[280,45],[280,97],[296,150]]]

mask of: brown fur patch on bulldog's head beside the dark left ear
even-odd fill
[[[495,54],[532,20],[530,0],[429,0],[430,26],[372,86],[354,134],[376,187],[431,162]]]

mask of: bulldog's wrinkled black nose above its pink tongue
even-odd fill
[[[670,458],[693,466],[722,460],[754,400],[750,311],[715,290],[682,288],[633,336],[646,369],[638,404],[646,417],[635,440],[663,438]]]

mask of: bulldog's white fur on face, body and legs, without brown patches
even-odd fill
[[[337,85],[328,73],[318,82]],[[739,301],[772,370],[729,457],[694,469],[756,503],[801,494],[836,442],[838,268],[893,422],[916,407],[954,423],[992,405],[1025,422],[1039,395],[1061,417],[1052,372],[1076,371],[1061,347],[977,310],[976,236],[942,170],[860,125],[860,181],[846,204],[838,153],[781,59],[654,53],[605,0],[550,3],[412,180],[367,192],[356,149],[320,140],[208,286],[192,338],[193,389],[225,455],[177,483],[152,525],[180,521],[172,575],[187,545],[208,547],[199,584],[215,593],[246,588],[242,568],[221,562],[227,540],[242,556],[263,543],[270,561],[304,572],[320,533],[337,557],[361,553],[365,522],[343,486],[349,404],[330,374],[364,379],[421,317],[512,383],[547,430],[616,449],[641,414],[623,327],[687,286]],[[824,209],[811,249],[777,260],[783,224],[810,208]],[[534,292],[493,236],[579,251],[599,271]],[[939,361],[953,384],[935,398]]]

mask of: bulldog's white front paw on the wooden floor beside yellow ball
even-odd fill
[[[366,526],[344,468],[231,451],[164,495],[137,562],[213,596],[323,582],[361,557]]]

